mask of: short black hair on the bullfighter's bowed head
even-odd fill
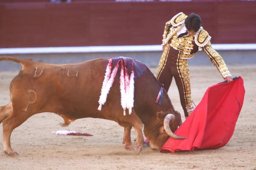
[[[185,19],[187,30],[195,30],[197,32],[201,27],[201,17],[198,14],[191,13]]]

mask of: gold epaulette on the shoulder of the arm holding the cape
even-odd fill
[[[204,47],[207,45],[209,40],[211,40],[211,36],[209,36],[208,32],[204,30],[203,27],[201,27],[195,34],[195,43],[199,47]]]

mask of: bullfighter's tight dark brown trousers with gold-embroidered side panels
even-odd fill
[[[174,77],[184,114],[189,116],[194,110],[191,99],[189,66],[187,59],[180,59],[181,55],[181,51],[166,45],[157,68],[157,80],[168,91]]]

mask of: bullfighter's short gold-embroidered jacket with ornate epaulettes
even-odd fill
[[[228,70],[224,60],[212,48],[208,32],[201,27],[195,35],[185,35],[183,37],[177,37],[177,31],[182,28],[185,24],[185,19],[187,15],[182,12],[178,13],[171,20],[169,20],[164,28],[163,32],[163,43],[166,45],[169,43],[172,48],[183,52],[181,59],[190,59],[194,57],[197,51],[203,51],[207,54],[212,64],[218,69],[222,77],[231,76],[230,71]]]

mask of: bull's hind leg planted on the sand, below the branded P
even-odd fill
[[[3,150],[6,155],[18,156],[18,153],[11,148],[11,134],[16,127],[20,126],[28,118],[29,115],[25,111],[20,111],[18,114],[12,111],[12,113],[3,120]]]

